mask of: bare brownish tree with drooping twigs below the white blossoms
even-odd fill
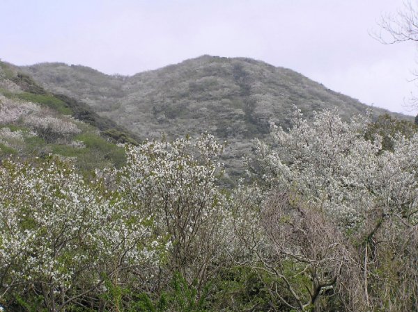
[[[272,297],[295,311],[327,311],[332,297],[356,309],[365,302],[355,249],[320,207],[277,192],[263,204],[259,222],[264,239],[252,233],[242,241],[256,254],[252,268],[277,279]]]

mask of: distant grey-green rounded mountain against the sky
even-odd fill
[[[141,139],[161,132],[170,137],[212,133],[228,144],[231,172],[251,149],[251,140],[265,138],[269,121],[288,127],[294,106],[307,117],[337,108],[346,119],[370,108],[291,69],[249,58],[201,56],[133,76],[63,63],[21,69],[47,90],[75,97]]]

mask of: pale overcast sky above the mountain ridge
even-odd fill
[[[288,67],[396,112],[418,95],[414,44],[371,38],[403,0],[0,0],[0,58],[135,74],[203,54]]]

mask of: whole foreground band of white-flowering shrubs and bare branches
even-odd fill
[[[3,161],[0,304],[416,311],[418,132],[390,118],[295,110],[233,189],[209,135],[126,145],[125,165],[88,176],[54,156]]]

